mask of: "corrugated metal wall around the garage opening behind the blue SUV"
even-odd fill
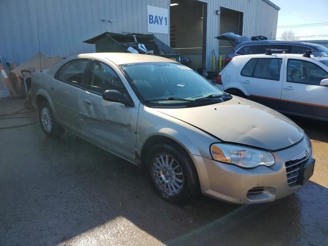
[[[262,0],[208,0],[207,27],[207,69],[212,68],[212,50],[218,55],[218,41],[214,38],[219,34],[220,15],[215,10],[220,7],[243,12],[243,35],[264,35],[275,38],[277,32],[278,10]]]

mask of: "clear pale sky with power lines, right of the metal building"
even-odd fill
[[[313,23],[328,23],[328,0],[271,0],[280,7],[278,27]],[[328,39],[328,25],[278,28],[277,39],[283,31],[295,32],[295,36],[326,35],[325,37],[300,37],[299,40]]]

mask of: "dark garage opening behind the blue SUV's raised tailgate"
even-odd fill
[[[223,7],[220,11],[220,34],[234,32],[242,36],[243,13]],[[226,57],[233,50],[234,46],[228,40],[219,41],[219,53],[222,57]]]

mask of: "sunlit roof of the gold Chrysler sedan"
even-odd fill
[[[115,53],[115,52],[104,52],[104,53],[88,53],[79,54],[72,56],[71,58],[105,58],[116,65],[131,64],[131,63],[176,63],[173,59],[157,55],[144,55],[144,54],[132,54],[132,53]]]

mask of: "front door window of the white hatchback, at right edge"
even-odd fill
[[[288,59],[288,82],[319,86],[320,81],[325,78],[328,78],[328,73],[318,65],[310,61]]]

